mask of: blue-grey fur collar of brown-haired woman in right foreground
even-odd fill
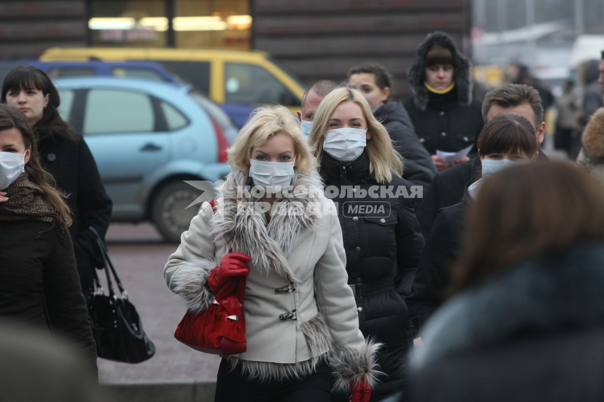
[[[518,265],[439,309],[422,331],[414,369],[448,354],[501,344],[524,331],[604,325],[604,245],[590,243]]]

